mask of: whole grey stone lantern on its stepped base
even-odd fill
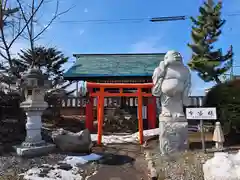
[[[21,79],[25,101],[20,104],[27,116],[25,141],[16,147],[20,156],[39,155],[50,152],[55,145],[46,143],[41,136],[42,113],[48,107],[44,101],[45,91],[50,82],[46,80],[41,70],[31,68]]]

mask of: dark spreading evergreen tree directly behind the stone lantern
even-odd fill
[[[45,100],[53,108],[51,116],[60,117],[61,98],[72,94],[75,90],[67,91],[66,88],[71,82],[63,79],[63,65],[68,61],[61,51],[55,48],[45,48],[43,46],[21,50],[19,58],[13,60],[15,73],[23,74],[29,68],[35,66],[41,69],[48,80],[51,80],[50,89],[45,92]],[[21,84],[19,84],[21,90]]]

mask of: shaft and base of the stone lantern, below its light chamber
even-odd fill
[[[54,144],[46,143],[42,139],[42,113],[47,107],[46,102],[30,103],[25,101],[21,104],[27,115],[26,123],[26,138],[21,145],[15,146],[16,152],[19,156],[37,156],[51,152]]]

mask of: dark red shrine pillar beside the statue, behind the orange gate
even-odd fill
[[[148,129],[156,128],[157,102],[156,97],[149,97],[147,104]]]

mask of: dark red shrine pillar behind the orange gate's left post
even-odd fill
[[[88,88],[89,94],[93,91],[92,88]],[[86,128],[91,132],[93,128],[93,97],[89,97],[89,102],[86,104]]]

